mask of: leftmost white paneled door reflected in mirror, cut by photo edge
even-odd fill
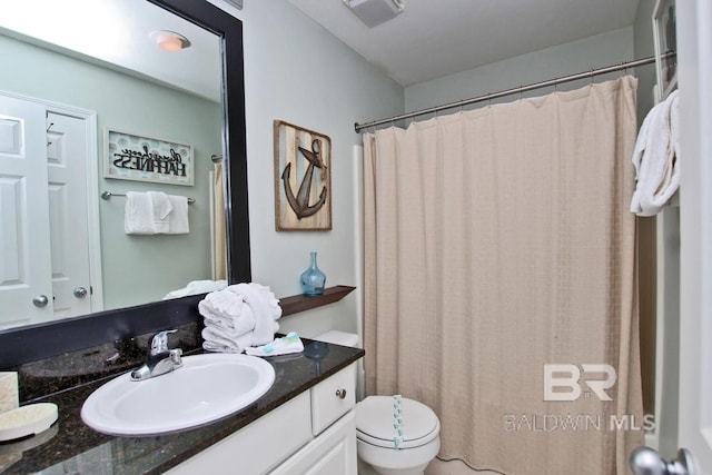
[[[0,96],[0,328],[52,317],[44,116]]]

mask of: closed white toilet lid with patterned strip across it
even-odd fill
[[[363,442],[396,448],[394,437],[394,397],[368,396],[356,405],[357,436]],[[441,423],[429,407],[417,400],[400,398],[400,429],[403,441],[397,448],[425,445],[439,434]]]

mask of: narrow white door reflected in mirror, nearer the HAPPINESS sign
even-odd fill
[[[85,120],[47,115],[53,317],[91,313]]]

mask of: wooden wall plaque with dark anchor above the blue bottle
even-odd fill
[[[332,229],[332,140],[283,120],[274,132],[276,229]]]

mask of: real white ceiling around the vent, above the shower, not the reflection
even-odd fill
[[[403,0],[403,13],[368,29],[342,0],[288,1],[403,86],[630,26],[639,3]]]

